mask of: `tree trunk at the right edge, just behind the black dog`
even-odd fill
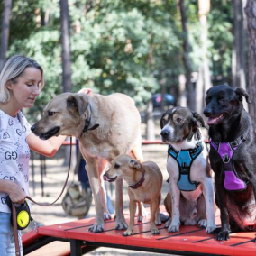
[[[256,0],[248,0],[245,7],[248,27],[248,88],[251,104],[249,113],[254,130],[256,130]]]

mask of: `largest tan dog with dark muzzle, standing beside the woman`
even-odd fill
[[[140,127],[141,116],[133,99],[118,93],[61,94],[50,100],[41,120],[32,126],[32,132],[42,139],[58,135],[78,138],[96,203],[96,223],[89,229],[93,233],[104,231],[105,219],[111,218],[105,203],[105,165],[124,153],[142,160]],[[116,181],[115,221],[116,229],[127,228],[122,179]]]

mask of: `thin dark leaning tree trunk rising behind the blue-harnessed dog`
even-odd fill
[[[191,64],[189,59],[189,42],[188,42],[188,32],[187,32],[187,15],[184,5],[184,0],[179,0],[179,10],[181,14],[182,30],[184,35],[183,40],[183,62],[186,70],[186,90],[187,90],[187,107],[191,110],[195,110],[195,92],[194,87],[191,82]]]

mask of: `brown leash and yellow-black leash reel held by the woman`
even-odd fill
[[[64,186],[62,187],[62,190],[59,194],[59,197],[62,196],[63,192],[64,192],[64,189],[65,187],[67,186],[67,183],[68,183],[68,180],[69,180],[69,172],[70,172],[70,167],[71,167],[71,156],[72,156],[72,137],[70,137],[70,152],[69,152],[69,169],[68,169],[68,174],[67,174],[67,178],[65,180],[65,184]],[[59,200],[59,197],[53,201],[52,203],[38,203],[36,202],[35,200],[32,199],[32,197],[29,197],[27,196],[26,198],[29,199],[30,201],[32,201],[32,203],[38,205],[38,206],[52,206],[53,204],[55,204],[58,200]],[[26,204],[26,202],[25,202]],[[15,253],[16,253],[16,256],[20,256],[21,255],[21,251],[20,251],[20,246],[19,246],[19,236],[18,236],[18,223],[17,223],[17,211],[16,211],[16,207],[14,206],[14,203],[11,201],[10,199],[10,205],[11,205],[11,209],[12,209],[12,220],[13,220],[13,227],[14,227],[14,242],[15,242]],[[25,214],[24,212],[26,212],[25,210],[23,211],[23,214]],[[20,212],[22,213],[22,212]],[[19,215],[19,213],[18,213]],[[25,225],[25,227],[23,228],[20,228],[20,229],[24,229],[26,228],[30,221],[32,220],[32,217],[30,215],[30,212],[28,213],[28,222],[27,224]],[[20,225],[19,225],[20,227]]]

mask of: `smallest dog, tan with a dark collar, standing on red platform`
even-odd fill
[[[160,198],[162,186],[162,174],[158,165],[152,161],[141,163],[128,155],[120,155],[112,162],[112,167],[105,172],[104,179],[112,182],[116,178],[123,178],[129,185],[128,195],[130,197],[130,223],[123,236],[133,233],[136,203],[142,202],[151,205],[151,232],[159,234],[156,224],[160,225]],[[139,206],[139,218],[141,209]]]

